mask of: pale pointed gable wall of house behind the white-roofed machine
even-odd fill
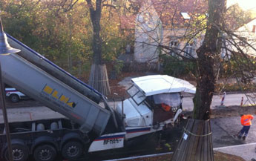
[[[158,62],[158,45],[163,39],[162,22],[151,1],[145,1],[137,15],[135,25],[134,60],[136,62]]]

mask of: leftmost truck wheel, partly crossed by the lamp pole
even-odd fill
[[[20,144],[12,144],[13,149],[13,161],[26,161],[29,155],[27,146]],[[8,149],[4,151],[5,160],[9,160]]]

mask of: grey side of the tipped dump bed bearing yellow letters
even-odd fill
[[[102,134],[111,114],[59,79],[11,54],[0,59],[3,81],[81,125],[80,130]]]

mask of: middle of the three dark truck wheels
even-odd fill
[[[56,157],[56,149],[52,145],[40,145],[33,153],[36,161],[53,161]]]

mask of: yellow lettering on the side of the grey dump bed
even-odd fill
[[[42,91],[49,94],[50,96],[53,96],[59,101],[64,102],[66,105],[70,106],[71,108],[76,107],[76,103],[70,102],[70,98],[68,96],[65,96],[64,94],[62,94],[61,96],[58,96],[59,92],[56,91],[56,89],[51,88],[49,85],[45,85],[45,88],[43,88]]]

